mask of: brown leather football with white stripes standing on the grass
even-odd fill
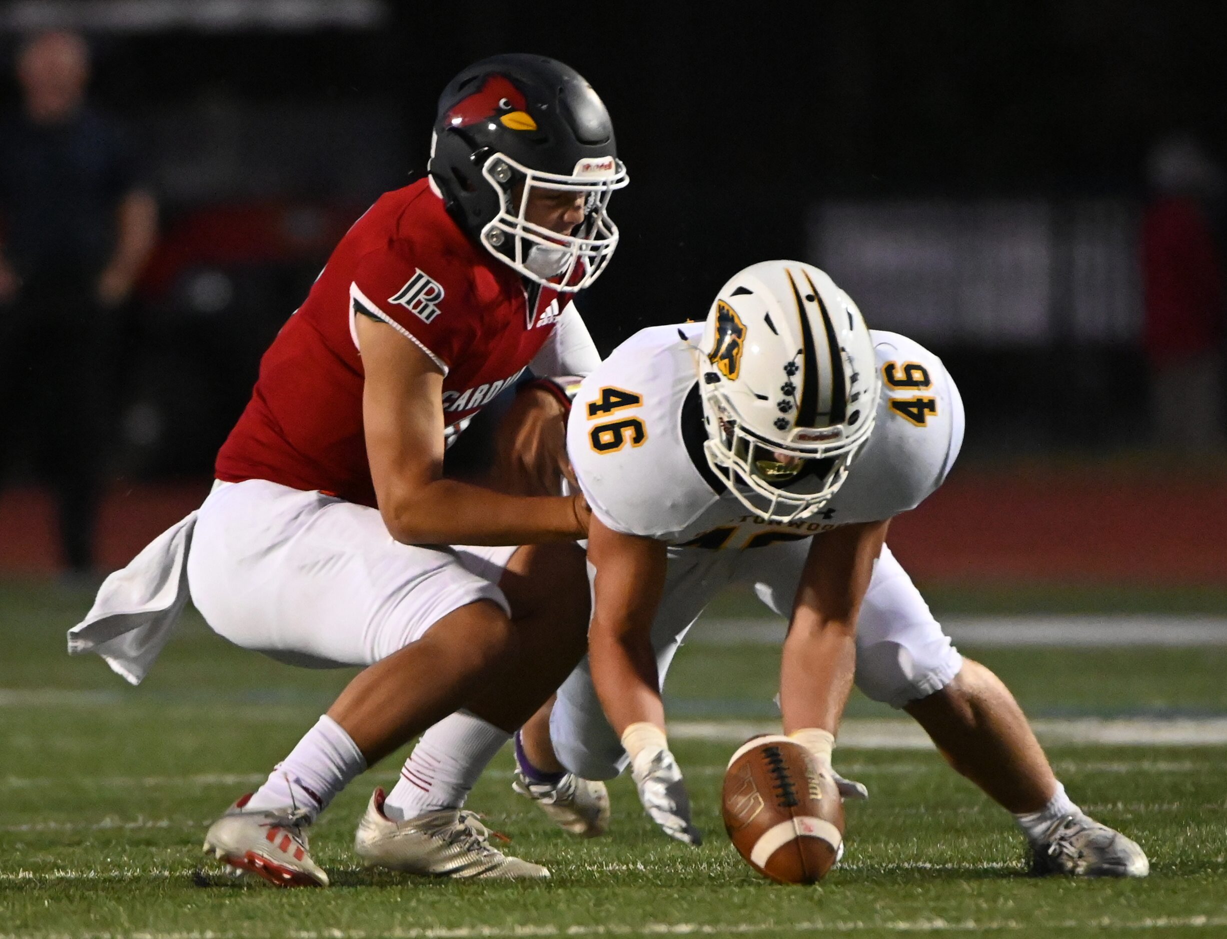
[[[724,775],[724,827],[760,874],[816,884],[843,843],[843,800],[829,772],[788,737],[755,737]]]

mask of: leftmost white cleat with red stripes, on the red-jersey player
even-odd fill
[[[252,809],[248,793],[212,824],[205,835],[205,853],[237,870],[255,874],[274,886],[328,886],[325,874],[307,847],[303,829],[310,824],[303,809]]]

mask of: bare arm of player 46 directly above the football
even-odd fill
[[[779,673],[784,732],[828,767],[856,668],[856,615],[888,523],[844,525],[816,534],[793,604]],[[859,783],[847,785],[864,796]],[[844,785],[840,791],[850,794]]]

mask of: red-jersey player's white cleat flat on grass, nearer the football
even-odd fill
[[[353,850],[367,867],[461,879],[550,876],[540,864],[507,857],[493,847],[492,835],[507,840],[506,836],[492,832],[471,812],[443,809],[393,821],[384,815],[383,803],[383,789],[375,789],[353,836]]]

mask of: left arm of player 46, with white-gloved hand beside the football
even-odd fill
[[[615,532],[594,517],[588,559],[596,570],[589,667],[596,696],[631,758],[631,776],[649,818],[687,845],[703,838],[691,824],[690,796],[665,738],[665,706],[652,647],[652,622],[665,587],[664,542]]]

